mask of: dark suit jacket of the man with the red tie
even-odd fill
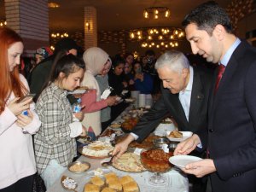
[[[212,190],[255,192],[256,49],[247,42],[231,55],[209,109],[208,130],[200,137],[217,169]]]

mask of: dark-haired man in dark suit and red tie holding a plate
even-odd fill
[[[207,129],[178,144],[174,154],[207,148],[210,159],[190,163],[183,171],[210,174],[213,192],[255,192],[256,49],[236,38],[229,16],[214,2],[192,10],[183,26],[193,53],[225,69],[212,89]]]

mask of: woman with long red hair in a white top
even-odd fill
[[[18,68],[22,39],[10,28],[1,28],[0,50],[0,191],[32,191],[36,173],[32,134],[41,122],[33,112],[32,97],[20,99],[29,93]]]

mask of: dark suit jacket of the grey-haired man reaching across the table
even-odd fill
[[[137,142],[142,142],[154,131],[160,121],[171,114],[176,120],[179,131],[199,131],[207,127],[208,99],[212,85],[213,75],[207,69],[194,67],[194,79],[189,108],[189,121],[186,119],[178,94],[161,86],[162,95],[153,108],[145,113],[132,130],[138,136]]]

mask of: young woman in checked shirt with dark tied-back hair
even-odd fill
[[[35,135],[35,154],[38,173],[47,189],[67,169],[76,156],[75,137],[85,136],[80,122],[73,122],[72,107],[67,100],[67,90],[75,90],[84,76],[84,61],[69,54],[57,55],[49,83],[36,104],[40,131]],[[78,116],[76,116],[78,117]],[[83,119],[80,115],[79,119]]]

